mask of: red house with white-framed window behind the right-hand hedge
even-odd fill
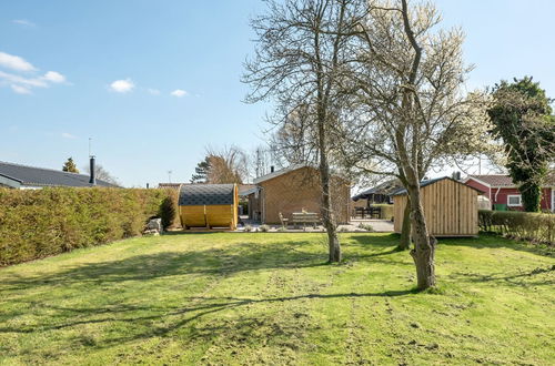
[[[542,189],[542,210],[555,212],[555,181],[549,180]],[[523,210],[521,192],[509,175],[487,174],[468,175],[464,181],[467,185],[478,189],[490,199],[492,205],[506,205],[508,210]]]

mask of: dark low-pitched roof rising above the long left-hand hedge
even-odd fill
[[[88,174],[0,162],[0,175],[27,186],[91,186]],[[117,186],[97,180],[100,186]]]

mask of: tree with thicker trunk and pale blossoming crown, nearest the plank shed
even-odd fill
[[[481,151],[491,128],[484,93],[465,93],[461,30],[434,31],[430,3],[369,1],[351,32],[357,61],[343,83],[349,121],[337,125],[345,164],[396,176],[407,190],[418,288],[434,286],[435,244],[428,233],[420,183],[433,166]]]

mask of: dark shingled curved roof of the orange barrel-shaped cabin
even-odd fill
[[[179,191],[180,206],[233,204],[235,184],[183,184]]]

